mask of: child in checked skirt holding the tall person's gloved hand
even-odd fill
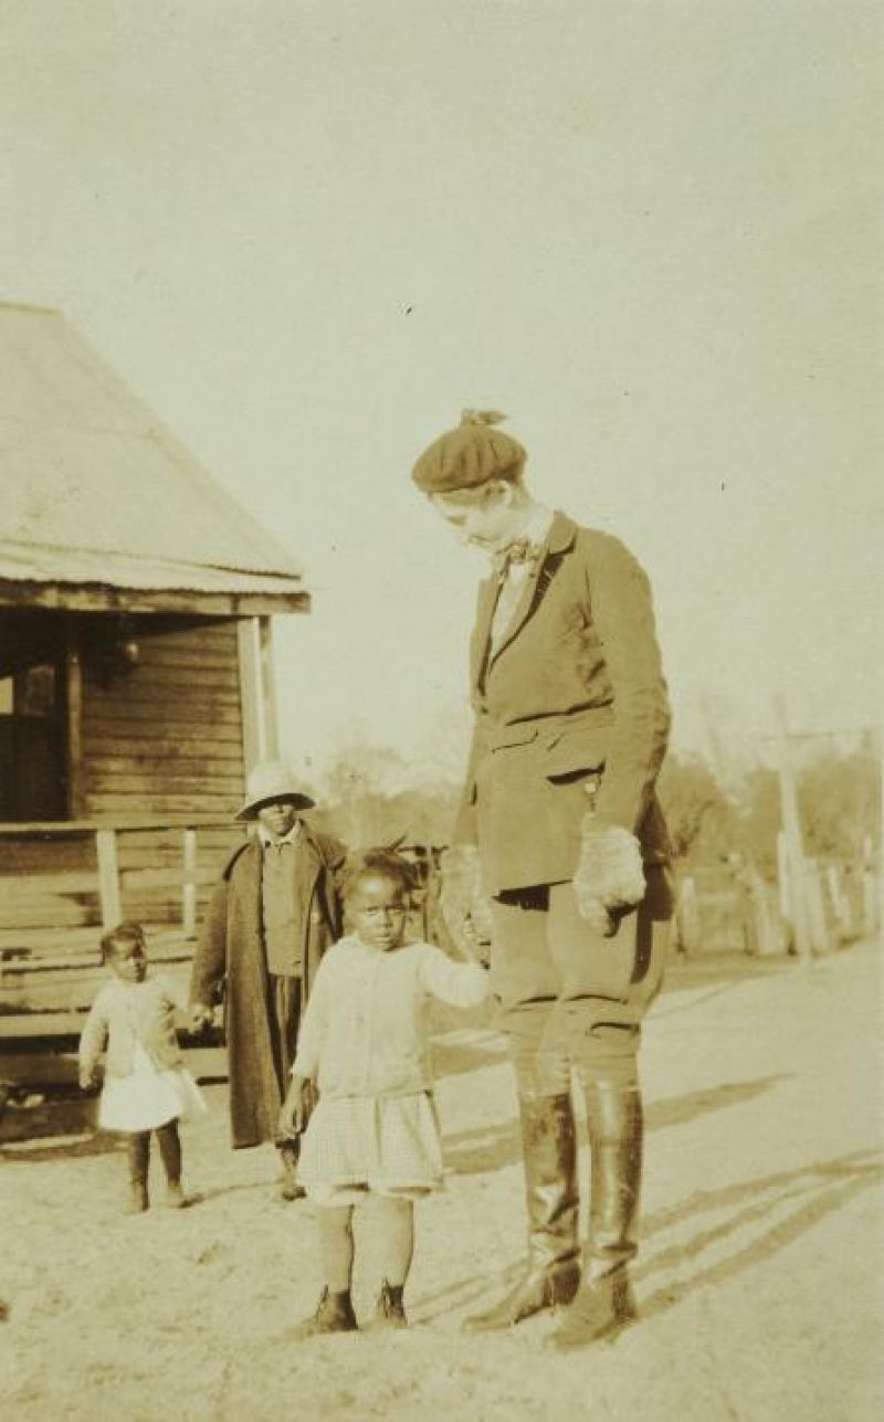
[[[378,1196],[385,1256],[377,1321],[406,1325],[414,1202],[442,1186],[429,1000],[473,1007],[487,997],[482,967],[406,941],[411,873],[388,850],[370,850],[350,869],[344,903],[352,931],[325,953],[301,1021],[280,1132],[306,1126],[298,1177],[320,1206],[325,1273],[318,1308],[297,1330],[301,1338],[357,1328],[352,1210],[367,1194]]]

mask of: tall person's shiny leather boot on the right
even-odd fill
[[[644,1121],[637,1085],[587,1082],[590,1128],[590,1237],[583,1280],[550,1334],[553,1348],[611,1337],[637,1317],[630,1281],[635,1257]]]

